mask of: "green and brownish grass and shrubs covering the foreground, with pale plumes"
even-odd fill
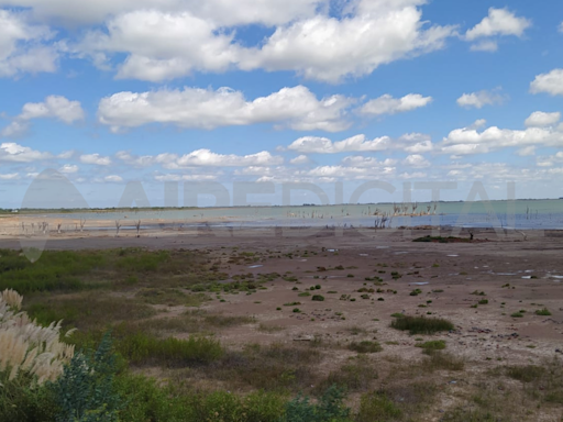
[[[264,256],[277,258],[278,254],[285,256],[238,248],[224,251],[220,258],[207,251],[121,248],[48,252],[31,265],[19,252],[0,251],[0,282],[14,289],[0,296],[0,421],[417,422],[439,418],[459,422],[561,418],[560,359],[519,366],[503,358],[496,364],[492,352],[483,365],[474,366],[472,360],[450,353],[456,348],[446,347],[443,340],[417,337],[454,330],[450,321],[405,314],[412,309],[385,316],[375,299],[393,292],[390,289],[376,287],[374,291],[367,284],[361,287],[362,282],[350,281],[356,286],[355,296],[373,298],[371,303],[357,299],[364,307],[374,306],[375,314],[365,324],[349,315],[347,307],[357,306],[350,302],[354,298],[347,292],[352,290],[343,295],[344,303],[328,299],[327,309],[317,302],[286,303],[290,308],[279,303],[277,309],[283,312],[275,312],[278,316],[301,322],[330,318],[346,324],[345,311],[357,324],[341,325],[338,336],[313,331],[309,341],[286,342],[290,330],[285,333],[285,325],[263,322],[252,311],[227,313],[229,306],[222,308],[223,301],[245,299],[235,295],[260,296],[274,280],[286,289],[283,278],[299,285],[297,274],[282,277],[228,269],[236,264],[246,268]],[[305,254],[314,252],[295,252],[292,257]],[[394,273],[399,275],[396,268],[406,268],[402,264],[380,266],[394,269],[386,276],[390,278]],[[234,275],[227,280],[222,271]],[[357,274],[355,278],[363,277]],[[328,288],[322,287],[323,291]],[[300,286],[289,297],[295,298],[298,290],[307,290],[311,299],[321,292],[317,286]],[[375,292],[378,295],[373,297]],[[393,301],[393,296],[387,299]],[[427,299],[422,302],[428,306],[432,301]],[[258,302],[252,298],[246,303],[254,307]],[[416,307],[420,301],[412,302]],[[547,314],[543,311],[549,312],[543,308],[536,314]],[[12,324],[15,320],[25,321],[23,325],[33,329],[35,337],[25,337],[27,343],[22,343],[18,327],[23,325]],[[379,342],[393,346],[394,352],[412,348],[412,340],[397,338],[404,337],[402,333],[386,337],[388,329],[376,330],[389,322],[394,329],[416,334],[411,338],[423,354],[409,360],[396,353],[372,355],[383,349]],[[232,346],[219,340],[242,325],[260,333],[261,342],[267,338],[271,343]],[[65,336],[67,332],[71,335]],[[40,341],[46,337],[51,341]],[[16,346],[23,355],[14,353]],[[59,352],[54,353],[55,348]],[[332,358],[336,349],[342,359]],[[42,351],[54,355],[47,358]],[[457,388],[450,386],[453,382]]]

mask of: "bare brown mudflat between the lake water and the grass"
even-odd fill
[[[252,315],[266,326],[256,331],[243,325],[222,332],[222,342],[233,346],[311,341],[314,336],[347,342],[350,329],[361,327],[386,344],[382,356],[416,358],[420,351],[406,347],[413,346],[415,338],[389,327],[390,314],[401,312],[451,320],[457,329],[434,337],[446,340],[451,352],[471,360],[527,364],[563,353],[563,237],[559,232],[475,230],[474,242],[417,243],[412,240],[426,235],[468,238],[470,234],[438,227],[200,227],[142,231],[136,237],[133,230],[122,230],[115,236],[114,232],[81,233],[75,227],[60,234],[52,229],[47,238],[41,233],[14,235],[15,221],[0,221],[0,248],[43,244],[49,249],[197,248],[221,258],[222,270],[231,281],[243,274],[295,277],[297,281],[278,279],[266,284],[267,290],[252,296],[225,295],[224,302],[203,307],[212,312]],[[255,262],[229,264],[232,248],[255,254]],[[383,281],[374,285],[374,277]],[[310,291],[310,297],[298,297],[314,285],[321,289]],[[362,299],[363,292],[357,291],[362,288],[374,291],[368,290]],[[411,296],[415,289],[421,292]],[[312,295],[322,295],[324,301],[312,301]],[[342,300],[343,295],[350,298]],[[479,300],[488,303],[478,304]],[[291,302],[300,304],[284,306]],[[294,308],[301,312],[292,312]],[[542,308],[552,315],[534,313]],[[511,316],[520,310],[526,311],[522,318]],[[175,309],[168,312],[174,314]],[[267,330],[267,325],[273,329]]]

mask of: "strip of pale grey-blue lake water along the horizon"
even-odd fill
[[[430,215],[395,215],[390,226],[451,225],[463,227],[563,229],[563,200],[517,200],[419,203],[415,214],[428,211]],[[158,220],[162,227],[173,224],[266,227],[266,226],[374,226],[374,213],[393,214],[394,206],[345,204],[318,207],[233,207],[201,209],[89,211],[49,214],[65,220],[120,220],[123,224],[141,220]],[[434,214],[435,212],[435,214]],[[412,213],[409,208],[408,213]],[[88,225],[88,224],[87,224]]]

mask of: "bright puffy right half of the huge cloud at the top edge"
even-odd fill
[[[440,49],[454,34],[453,26],[423,29],[421,3],[358,0],[340,20],[317,15],[279,26],[260,49],[242,52],[240,67],[294,70],[328,82],[368,75],[380,65]]]

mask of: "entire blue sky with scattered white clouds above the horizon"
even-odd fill
[[[0,208],[563,197],[562,46],[559,0],[0,0]]]

